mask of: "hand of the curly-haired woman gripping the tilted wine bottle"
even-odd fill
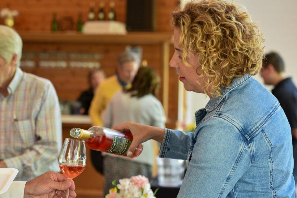
[[[133,141],[127,151],[127,156],[130,157],[134,153],[136,147],[147,140],[153,139],[160,143],[163,142],[165,129],[152,127],[144,124],[138,124],[133,122],[123,123],[114,126],[112,129],[117,131],[130,132],[133,136]]]

